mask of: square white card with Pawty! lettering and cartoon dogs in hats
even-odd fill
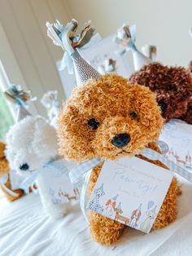
[[[87,208],[149,233],[173,173],[137,157],[105,161]]]

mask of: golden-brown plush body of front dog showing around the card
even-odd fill
[[[148,148],[154,149],[160,153],[159,147],[156,143],[150,143]],[[167,168],[160,161],[152,161],[146,157],[137,156],[145,161]],[[95,167],[91,173],[89,179],[89,196],[94,189],[94,185],[98,179],[98,175],[102,169],[103,163]],[[155,219],[153,229],[159,229],[161,227],[168,226],[177,218],[177,196],[181,195],[181,188],[176,178],[172,179],[172,183],[168,189],[168,193],[165,196],[164,203],[159,210],[159,214]],[[89,227],[94,241],[102,245],[111,245],[113,242],[119,241],[120,234],[124,230],[124,225],[118,223],[110,218],[103,217],[101,214],[97,214],[94,211],[89,212]]]

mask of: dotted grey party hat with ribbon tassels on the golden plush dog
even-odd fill
[[[78,22],[72,20],[65,27],[58,20],[55,24],[46,22],[47,35],[55,45],[60,46],[64,52],[61,68],[68,67],[68,72],[72,73],[75,69],[76,83],[81,85],[89,78],[98,78],[101,75],[87,61],[85,61],[78,48],[85,46],[94,35],[94,29],[90,25],[90,21],[81,29],[81,33],[77,34],[76,29]]]

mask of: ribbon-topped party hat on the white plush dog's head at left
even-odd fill
[[[36,97],[33,97],[30,91],[24,91],[21,86],[11,84],[9,89],[4,92],[4,95],[17,108],[16,121],[31,116],[31,113],[26,108],[28,107],[28,102],[36,100]]]

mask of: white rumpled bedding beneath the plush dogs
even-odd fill
[[[148,235],[127,228],[116,247],[91,241],[89,227],[76,207],[53,220],[44,213],[39,196],[30,194],[3,205],[0,201],[0,256],[192,255],[192,184],[183,183],[175,223]]]

